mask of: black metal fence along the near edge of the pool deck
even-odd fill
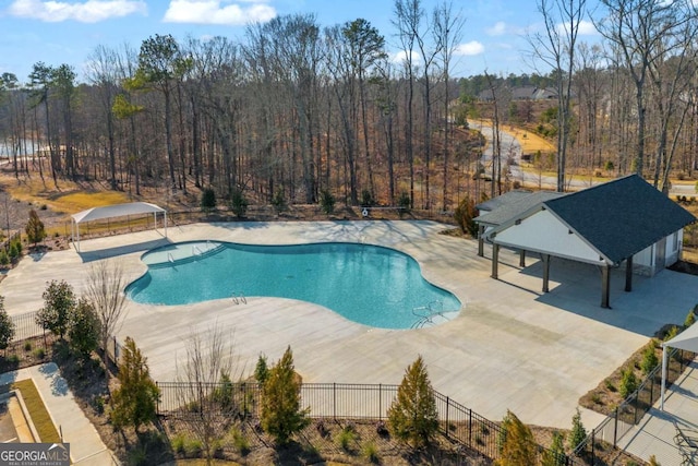
[[[261,415],[261,389],[257,383],[158,382],[158,415],[172,419],[197,418],[203,409],[255,420]],[[303,383],[301,406],[310,408],[313,419],[382,421],[397,396],[398,385]],[[433,392],[440,431],[450,441],[474,450],[489,458],[500,457],[502,428],[450,397]],[[547,449],[535,445],[539,463]],[[559,465],[583,465],[581,459],[562,456]]]

